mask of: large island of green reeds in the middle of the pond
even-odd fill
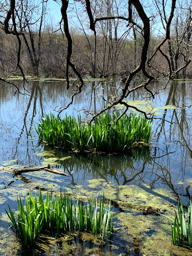
[[[54,147],[76,151],[120,152],[131,151],[135,145],[147,144],[151,137],[152,120],[141,114],[124,114],[117,119],[119,112],[112,116],[103,113],[92,123],[82,122],[80,115],[60,119],[52,113],[41,117],[36,131],[40,141]]]

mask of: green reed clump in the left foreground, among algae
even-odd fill
[[[53,195],[47,190],[46,200],[43,200],[39,189],[38,196],[34,197],[29,191],[24,203],[17,198],[18,215],[14,217],[9,205],[9,213],[12,222],[12,230],[20,237],[23,244],[31,246],[34,240],[44,230],[55,231],[57,234],[78,229],[79,231],[90,231],[100,235],[105,240],[106,232],[111,235],[113,212],[110,203],[104,207],[104,195],[100,198],[97,206],[97,198],[88,199],[87,203],[77,200],[75,203],[68,194],[59,193]]]

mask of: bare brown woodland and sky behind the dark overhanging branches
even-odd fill
[[[65,77],[67,58],[67,36],[63,23],[52,24],[48,1],[15,2],[16,29],[21,41],[20,66],[25,74]],[[153,0],[142,3],[147,16],[150,15],[150,39],[147,57],[164,39],[171,2]],[[6,32],[4,20],[10,2],[1,1],[0,30],[0,74],[20,74],[17,68],[18,40],[14,33]],[[78,72],[84,76],[127,76],[140,63],[143,45],[142,20],[135,7],[129,21],[128,2],[125,0],[93,0],[90,3],[95,31],[89,29],[89,15],[83,1],[74,1],[67,10],[70,18],[69,32],[72,40],[71,60]],[[71,17],[72,16],[72,17]],[[103,19],[108,17],[108,19]],[[114,18],[112,18],[114,17]],[[170,37],[148,63],[152,76],[166,76],[183,66],[191,56],[191,2],[175,4],[170,23]],[[96,21],[95,21],[96,20]],[[13,24],[9,24],[13,29]],[[167,61],[168,59],[168,61]],[[74,71],[69,68],[69,76]],[[138,73],[139,75],[139,73]],[[191,77],[191,67],[183,68],[176,77]]]

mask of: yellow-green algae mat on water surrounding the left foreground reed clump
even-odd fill
[[[2,173],[1,173],[2,174]],[[43,174],[39,173],[40,179],[32,177],[30,183],[24,184],[19,176],[14,177],[10,173],[3,173],[4,184],[0,184],[0,255],[29,255],[19,240],[17,240],[10,229],[7,230],[10,221],[4,212],[7,203],[11,201],[12,209],[16,210],[16,194],[22,193],[22,198],[27,194],[26,186],[34,189],[36,182],[40,187],[47,187],[52,183],[50,174],[48,179],[43,180]],[[26,177],[28,175],[25,175]],[[28,176],[29,177],[29,176]],[[14,180],[12,185],[7,185]],[[88,180],[88,183],[74,186],[61,186],[62,190],[76,195],[102,195],[104,192],[107,197],[114,200],[129,201],[135,204],[144,204],[159,207],[163,214],[174,216],[174,211],[170,205],[177,203],[176,196],[165,188],[150,189],[146,184],[141,185],[115,185],[104,179]],[[4,189],[3,189],[4,188]],[[53,188],[53,186],[52,186]],[[57,186],[58,188],[58,186]],[[121,209],[123,210],[123,208]],[[172,245],[171,230],[168,220],[163,216],[154,214],[143,215],[141,211],[135,209],[124,209],[114,211],[114,225],[116,228],[123,227],[114,233],[110,242],[105,245],[99,244],[96,240],[86,234],[76,233],[69,237],[67,234],[55,237],[42,236],[33,248],[33,255],[191,255],[191,251]]]

